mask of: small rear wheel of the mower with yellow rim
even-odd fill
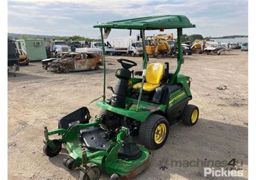
[[[186,126],[194,126],[197,123],[199,116],[199,109],[194,105],[186,105],[181,115],[181,121]]]

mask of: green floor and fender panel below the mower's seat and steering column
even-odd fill
[[[96,106],[109,110],[111,112],[121,114],[127,117],[131,117],[134,120],[145,122],[147,117],[153,112],[161,111],[165,113],[166,105],[164,104],[155,104],[151,102],[140,101],[140,108],[137,110],[137,101],[136,99],[126,98],[126,105],[128,106],[131,102],[133,105],[130,109],[123,109],[118,107],[113,107],[109,105],[108,101],[98,101]]]

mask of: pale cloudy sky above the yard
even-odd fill
[[[248,34],[247,0],[9,0],[8,32],[98,38],[99,30],[92,27],[97,22],[154,15],[187,16],[197,27],[185,29],[186,34]],[[164,33],[171,32],[176,35],[174,30]],[[160,32],[146,32],[157,33]],[[129,31],[111,32],[112,37],[126,34]]]

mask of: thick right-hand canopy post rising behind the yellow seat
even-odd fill
[[[182,51],[182,47],[181,47],[181,35],[182,35],[182,28],[178,28],[177,29],[177,45],[178,45],[177,69],[174,72],[174,74],[172,75],[171,85],[175,84],[175,82],[177,80],[177,75],[180,71],[181,64],[184,63],[183,51]]]

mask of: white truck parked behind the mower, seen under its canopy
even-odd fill
[[[142,40],[137,38],[131,39],[130,37],[118,37],[112,39],[106,39],[105,44],[105,53],[110,56],[114,55],[131,55],[131,56],[142,56]],[[91,48],[102,48],[102,43],[100,41],[91,42]]]

